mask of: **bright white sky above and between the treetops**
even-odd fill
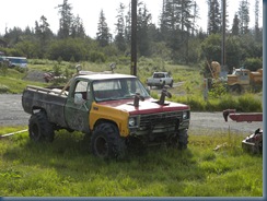
[[[39,23],[42,15],[47,17],[47,22],[50,25],[50,29],[57,33],[59,27],[58,9],[55,9],[58,4],[62,4],[63,0],[1,0],[0,2],[0,34],[3,35],[5,27],[13,28],[14,26],[25,29],[26,26],[30,28],[35,27],[35,21]],[[143,0],[147,4],[147,9],[152,14],[152,22],[158,26],[159,14],[162,10],[163,0]],[[255,0],[249,1],[249,14],[251,23],[249,27],[254,26],[254,9]],[[124,3],[128,11],[130,0],[68,0],[72,7],[72,13],[74,16],[79,14],[83,21],[86,35],[91,37],[96,36],[97,23],[100,19],[101,9],[103,9],[106,22],[111,28],[111,34],[115,34],[115,23],[117,9],[119,3]],[[202,27],[204,32],[207,31],[207,13],[208,5],[207,0],[197,0],[199,7],[198,25]],[[228,0],[228,14],[229,14],[229,27],[232,26],[234,13],[239,10],[240,0]],[[263,1],[259,1],[259,26],[263,26]]]

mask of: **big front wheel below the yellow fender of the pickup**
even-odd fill
[[[126,152],[125,141],[118,129],[111,123],[98,125],[91,138],[91,151],[101,158],[123,158]]]

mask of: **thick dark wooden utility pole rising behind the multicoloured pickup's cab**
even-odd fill
[[[137,75],[137,0],[131,0],[131,74]]]

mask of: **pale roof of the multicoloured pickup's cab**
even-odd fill
[[[118,74],[118,73],[93,73],[93,74],[83,74],[78,78],[84,78],[88,80],[109,80],[109,79],[132,79],[137,78],[130,74]]]

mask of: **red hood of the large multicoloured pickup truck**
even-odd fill
[[[189,110],[190,107],[179,103],[166,102],[164,105],[159,105],[158,99],[146,98],[143,102],[139,102],[139,107],[134,106],[134,99],[120,99],[120,100],[109,100],[101,102],[98,105],[105,107],[116,108],[118,110],[127,111],[130,115],[142,115],[142,114],[154,114],[154,113],[165,113],[165,111],[178,111],[178,110]]]

